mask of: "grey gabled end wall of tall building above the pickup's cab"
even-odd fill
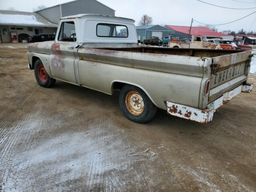
[[[115,11],[95,0],[78,0],[61,5],[62,17],[76,14],[115,16]]]

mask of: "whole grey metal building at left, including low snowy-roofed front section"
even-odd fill
[[[59,19],[76,14],[115,16],[115,10],[97,0],[74,0],[36,12],[0,10],[0,36],[3,42],[50,40]]]

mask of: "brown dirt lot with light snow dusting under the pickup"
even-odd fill
[[[25,47],[0,44],[0,191],[256,191],[256,91],[207,125],[136,124],[118,92],[40,87]]]

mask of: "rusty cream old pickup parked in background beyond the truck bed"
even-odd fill
[[[205,36],[192,36],[192,40],[186,39],[184,42],[170,41],[168,46],[171,48],[197,48],[197,49],[222,49],[219,44],[207,41]]]

